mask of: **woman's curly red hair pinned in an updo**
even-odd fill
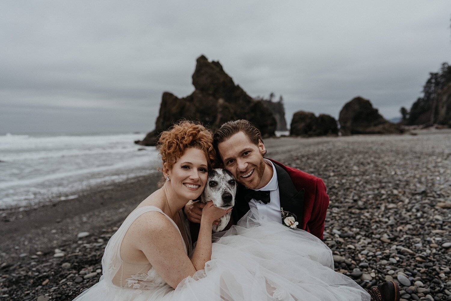
[[[157,148],[160,151],[161,160],[169,169],[179,157],[183,156],[187,148],[198,148],[204,152],[208,169],[212,168],[216,156],[212,132],[200,123],[187,120],[179,121],[169,130],[162,132]]]

